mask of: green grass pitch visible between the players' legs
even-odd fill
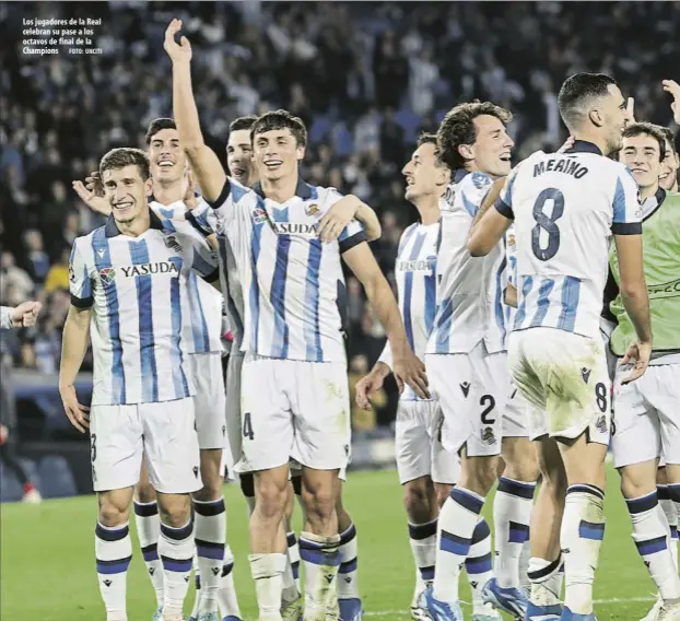
[[[607,530],[595,585],[599,621],[637,621],[653,602],[654,585],[631,539],[630,518],[609,473]],[[359,530],[360,588],[366,621],[407,621],[414,569],[397,472],[359,472],[345,487],[345,505]],[[247,562],[246,505],[237,485],[225,487],[228,542],[235,556],[235,583],[246,621],[257,619]],[[0,530],[0,618],[24,621],[104,619],[94,566],[96,502],[93,496],[47,501],[38,506],[4,504]],[[491,524],[491,502],[485,506]],[[298,513],[298,512],[297,512]],[[131,520],[134,530],[134,520]],[[128,575],[128,618],[150,621],[155,596],[132,536]],[[465,577],[461,597],[469,600]],[[192,602],[190,594],[188,601]],[[189,613],[187,605],[187,617]],[[467,607],[466,619],[471,619]]]

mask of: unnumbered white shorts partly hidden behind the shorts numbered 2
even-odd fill
[[[460,473],[460,458],[442,446],[444,417],[437,401],[399,401],[395,449],[399,482],[421,477],[454,485]]]

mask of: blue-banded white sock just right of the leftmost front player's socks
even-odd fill
[[[224,499],[194,501],[196,551],[201,575],[200,612],[218,611],[218,590],[224,566],[226,542],[226,511]]]

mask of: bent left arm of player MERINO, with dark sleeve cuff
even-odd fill
[[[514,179],[514,175],[507,179]],[[491,186],[470,227],[468,251],[473,257],[491,253],[512,224],[511,192],[512,180],[506,181],[506,178],[496,179]]]

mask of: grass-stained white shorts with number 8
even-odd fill
[[[530,437],[576,438],[609,445],[610,382],[605,345],[556,328],[511,333],[508,363],[513,380],[534,406]]]

